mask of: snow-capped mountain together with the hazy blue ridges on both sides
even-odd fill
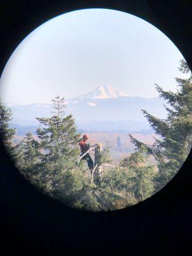
[[[93,92],[68,99],[65,104],[66,115],[72,114],[76,122],[81,122],[81,127],[83,127],[82,124],[84,122],[120,122],[120,120],[147,122],[141,109],[145,109],[159,118],[165,118],[166,116],[161,98],[130,97],[109,85],[99,86]],[[10,106],[10,108],[13,113],[12,122],[18,125],[38,125],[39,122],[36,120],[36,117],[49,117],[53,111],[52,104],[41,103],[25,106],[16,104]],[[104,127],[103,122],[100,122],[99,125],[100,129]],[[123,126],[125,128],[126,125],[124,124]],[[144,129],[145,125],[141,126],[141,129]],[[133,123],[130,125],[130,128],[132,127]]]

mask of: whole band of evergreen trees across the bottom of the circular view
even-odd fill
[[[188,65],[181,61],[180,70],[189,72]],[[55,97],[51,118],[36,118],[41,127],[36,129],[38,140],[30,132],[17,146],[11,140],[15,129],[10,128],[12,113],[0,104],[1,138],[15,161],[19,171],[47,193],[64,204],[87,211],[109,211],[136,204],[162,188],[184,163],[191,147],[192,128],[192,84],[188,79],[176,79],[180,90],[177,93],[164,92],[157,86],[159,96],[170,104],[168,118],[160,120],[146,111],[151,127],[161,136],[154,145],[145,145],[134,139],[136,151],[125,157],[118,166],[111,166],[92,177],[83,164],[78,163],[77,132],[72,115],[65,115],[64,98]],[[110,162],[108,148],[101,152],[100,166]],[[148,163],[154,156],[158,171]]]

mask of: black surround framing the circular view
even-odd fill
[[[131,13],[159,28],[177,45],[192,67],[191,1],[1,1],[1,72],[17,45],[33,29],[65,12],[109,8]],[[192,68],[191,68],[192,70]],[[88,213],[68,209],[39,193],[14,168],[0,143],[1,249],[20,252],[65,252],[76,246],[87,254],[138,251],[161,255],[191,252],[191,156],[156,195],[114,212]],[[182,239],[184,239],[182,241]],[[87,246],[97,245],[94,250]],[[112,248],[112,249],[111,249]],[[189,253],[190,254],[190,253]]]

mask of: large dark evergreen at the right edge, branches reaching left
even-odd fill
[[[189,73],[186,61],[180,61],[179,70]],[[166,100],[169,106],[165,106],[168,113],[166,120],[150,115],[142,110],[150,126],[161,140],[155,141],[152,146],[141,143],[130,134],[132,143],[136,148],[145,148],[148,154],[152,154],[158,163],[159,173],[156,179],[156,188],[164,186],[188,156],[192,142],[192,77],[188,79],[176,78],[179,90],[176,93],[166,92],[156,84],[159,96]]]

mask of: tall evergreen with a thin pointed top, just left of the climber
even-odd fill
[[[80,134],[72,115],[65,116],[65,101],[59,96],[52,99],[55,111],[51,118],[36,118],[44,127],[36,131],[42,150],[40,172],[44,184],[56,196],[63,187],[63,175],[67,170],[77,166],[79,148],[77,142]]]

